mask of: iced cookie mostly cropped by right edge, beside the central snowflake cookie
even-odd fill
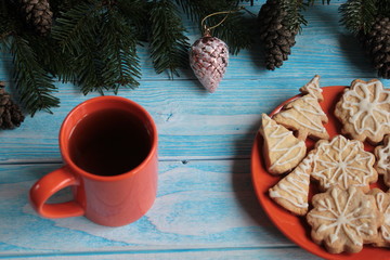
[[[384,181],[390,186],[390,135],[385,136],[385,144],[375,147],[374,154],[377,158],[375,169],[379,174],[384,174]]]

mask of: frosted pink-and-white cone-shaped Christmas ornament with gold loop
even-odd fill
[[[222,40],[207,31],[190,50],[190,65],[200,83],[213,93],[226,70],[229,49]]]

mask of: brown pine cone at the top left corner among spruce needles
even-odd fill
[[[49,0],[22,0],[22,11],[26,23],[38,34],[47,35],[53,23],[53,13],[50,11]]]

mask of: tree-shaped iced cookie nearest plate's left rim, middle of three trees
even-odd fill
[[[291,170],[306,156],[304,142],[265,114],[262,114],[259,131],[264,140],[264,158],[270,173],[281,174]]]

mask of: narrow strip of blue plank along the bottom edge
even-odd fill
[[[29,259],[30,256],[9,256],[15,259]],[[152,251],[115,251],[115,252],[94,252],[84,253],[55,253],[40,255],[40,259],[67,260],[67,259],[84,259],[84,260],[171,260],[171,259],[295,259],[311,260],[320,259],[300,248],[216,248],[216,249],[181,249],[181,250],[152,250]],[[1,259],[1,256],[0,256]]]

